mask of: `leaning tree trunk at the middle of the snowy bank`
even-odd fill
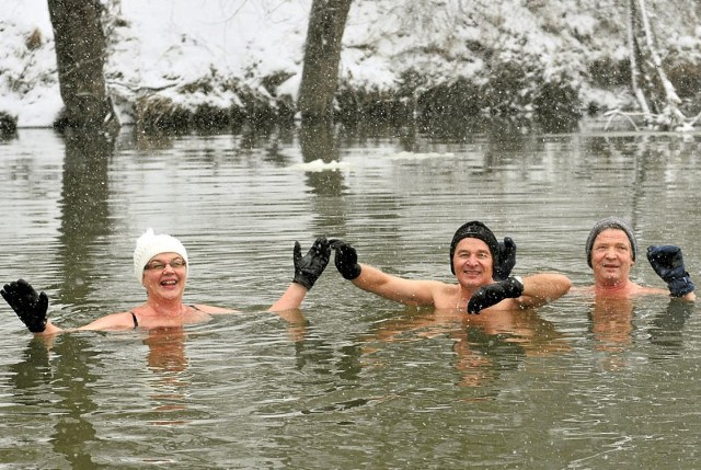
[[[313,0],[304,45],[298,107],[302,121],[331,119],[341,42],[352,0]]]

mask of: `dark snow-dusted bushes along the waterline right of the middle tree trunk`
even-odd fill
[[[397,88],[353,88],[343,83],[336,94],[337,117],[422,123],[448,121],[531,122],[552,130],[570,128],[582,116],[575,81],[548,77],[544,69],[503,61],[486,79],[459,77],[437,84],[415,70],[400,76]]]

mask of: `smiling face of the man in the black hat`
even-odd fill
[[[485,242],[476,238],[463,238],[456,245],[452,267],[460,285],[476,288],[491,284],[494,260]]]

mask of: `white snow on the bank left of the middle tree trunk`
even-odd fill
[[[115,28],[116,44],[105,67],[107,85],[116,93],[165,88],[162,95],[175,102],[235,101],[233,93],[185,98],[174,90],[208,73],[221,80],[235,77],[257,88],[257,77],[301,71],[310,5],[304,0],[122,0],[128,27]],[[3,0],[3,16],[0,111],[16,116],[19,127],[50,126],[62,102],[46,0]],[[35,30],[42,33],[44,47],[27,55],[24,42]],[[25,82],[20,89],[16,80],[9,80],[14,77]],[[295,76],[281,90],[296,93],[298,85]],[[128,122],[129,116],[122,115],[120,121]]]

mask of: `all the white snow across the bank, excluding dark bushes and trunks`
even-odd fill
[[[673,0],[677,2],[677,0]],[[292,101],[299,88],[311,0],[103,0],[117,5],[125,26],[111,24],[105,77],[124,124],[134,102],[158,93],[174,103],[227,106],[240,101],[237,88],[268,95],[262,79],[289,77],[274,94]],[[651,0],[650,9],[655,2]],[[677,2],[685,4],[683,2]],[[2,0],[0,20],[0,112],[19,127],[50,126],[62,107],[53,31],[46,0]],[[693,14],[657,8],[663,38],[694,60],[701,56],[701,27]],[[344,34],[340,79],[368,89],[392,89],[405,71],[418,70],[426,84],[457,77],[484,81],[480,43],[498,50],[502,62],[525,61],[544,77],[566,73],[584,103],[617,107],[630,100],[586,80],[586,64],[625,57],[622,10],[614,0],[355,0]],[[42,45],[27,49],[39,32]],[[472,47],[472,48],[471,48]],[[212,90],[183,92],[206,81]],[[237,87],[231,87],[235,83]],[[196,88],[196,87],[195,87]]]

